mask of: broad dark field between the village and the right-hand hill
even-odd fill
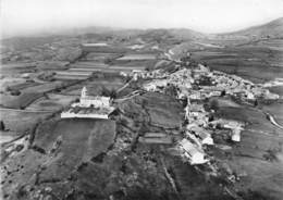
[[[247,43],[237,47],[202,49],[193,51],[192,58],[209,65],[212,70],[235,74],[254,83],[264,83],[283,77],[283,51],[274,49],[278,41],[264,45]]]

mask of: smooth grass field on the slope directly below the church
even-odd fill
[[[49,152],[61,138],[57,161],[47,165],[40,179],[65,178],[78,163],[107,151],[115,137],[115,123],[104,120],[71,118],[42,124],[34,145]]]

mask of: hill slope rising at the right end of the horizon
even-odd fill
[[[219,38],[244,37],[248,39],[283,38],[283,17],[238,32],[219,34]]]

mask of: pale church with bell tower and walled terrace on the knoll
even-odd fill
[[[74,102],[71,108],[61,113],[62,118],[109,118],[114,111],[110,97],[94,97],[83,87],[79,102]]]

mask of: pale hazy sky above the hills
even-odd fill
[[[283,0],[1,0],[2,32],[66,27],[245,28],[283,16]]]

